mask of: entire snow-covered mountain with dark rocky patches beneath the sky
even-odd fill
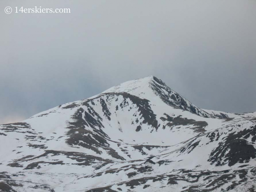
[[[0,191],[256,191],[256,113],[196,107],[154,76],[0,125]]]

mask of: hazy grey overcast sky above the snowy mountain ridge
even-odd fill
[[[255,0],[1,0],[0,8],[0,124],[149,75],[200,108],[256,111]]]

